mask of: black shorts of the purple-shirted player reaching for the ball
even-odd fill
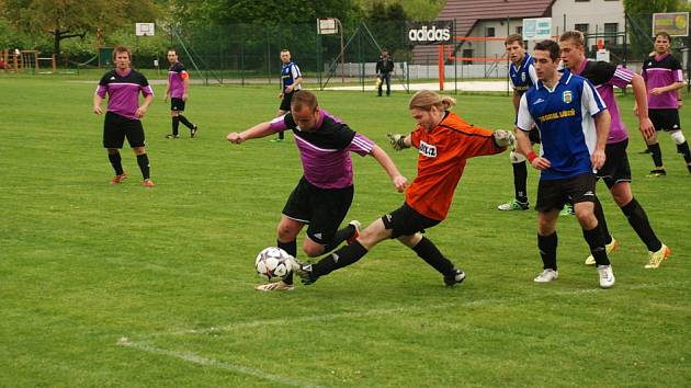
[[[315,242],[327,246],[353,202],[353,186],[343,189],[319,189],[303,176],[293,189],[283,215],[309,224],[307,236]]]

